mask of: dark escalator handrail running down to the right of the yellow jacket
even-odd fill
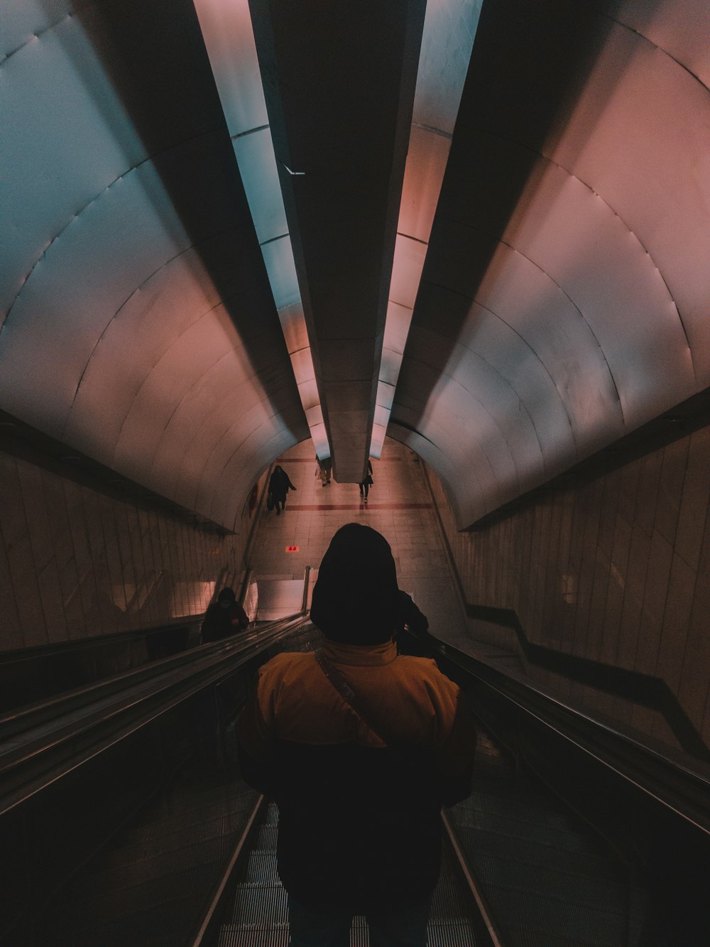
[[[619,724],[602,722],[559,696],[493,667],[432,634],[421,635],[444,662],[496,691],[565,740],[595,757],[618,776],[710,834],[710,766],[661,744],[651,746]],[[640,735],[639,735],[640,736]]]

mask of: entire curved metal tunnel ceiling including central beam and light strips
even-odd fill
[[[2,410],[228,528],[389,419],[466,527],[708,387],[705,0],[251,0],[263,124],[239,2],[0,10]]]

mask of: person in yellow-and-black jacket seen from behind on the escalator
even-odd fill
[[[313,589],[319,652],[277,654],[238,724],[243,777],[279,809],[277,867],[292,947],[424,947],[439,811],[470,795],[476,733],[433,660],[398,655],[389,544],[339,529]]]

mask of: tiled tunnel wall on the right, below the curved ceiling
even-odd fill
[[[456,530],[429,477],[470,604],[514,610],[531,642],[662,678],[710,744],[710,428],[545,491],[480,531]],[[509,629],[478,632],[518,647]],[[668,741],[658,713],[528,670]]]

